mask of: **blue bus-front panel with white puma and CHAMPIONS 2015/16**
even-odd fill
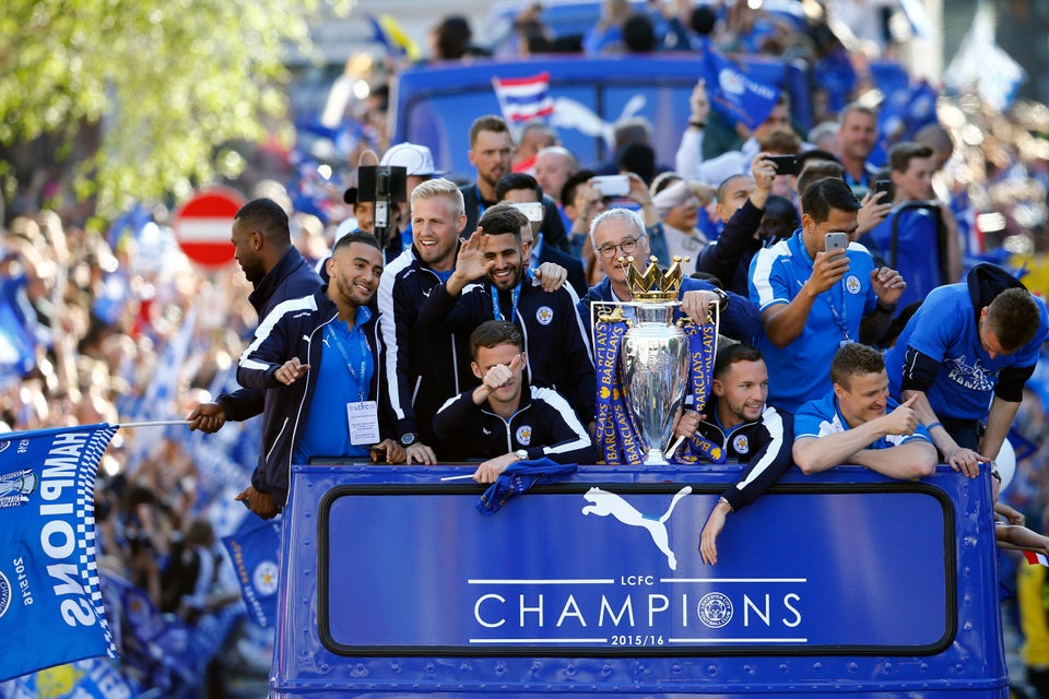
[[[329,494],[317,530],[326,647],[346,655],[373,647],[920,653],[951,637],[956,542],[944,532],[953,513],[920,484],[844,489],[830,506],[822,494],[768,495],[761,517],[733,520],[717,567],[697,550],[715,493],[682,484],[555,487],[483,526],[475,494],[415,485]],[[828,507],[848,513],[848,532]],[[493,555],[493,541],[515,542],[512,555]],[[402,572],[374,574],[391,556]]]

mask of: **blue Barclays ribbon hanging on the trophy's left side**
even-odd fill
[[[600,454],[610,465],[640,464],[644,453],[638,429],[626,407],[623,375],[620,370],[620,347],[629,325],[622,309],[613,305],[596,309],[593,323],[594,368],[597,371],[597,427]],[[609,311],[609,312],[605,312]]]

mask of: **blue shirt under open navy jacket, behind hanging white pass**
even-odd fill
[[[317,383],[293,463],[309,463],[310,457],[368,455],[367,446],[350,442],[346,403],[368,400],[375,357],[361,325],[370,318],[372,311],[361,307],[353,330],[340,320],[321,330],[320,367],[311,369],[318,372]]]

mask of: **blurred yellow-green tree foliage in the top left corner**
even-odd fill
[[[308,50],[320,2],[7,0],[0,145],[57,134],[72,146],[101,122],[96,152],[69,149],[78,194],[99,214],[185,197],[239,162],[222,144],[257,141],[260,117],[281,115],[281,59]]]

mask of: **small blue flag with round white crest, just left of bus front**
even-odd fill
[[[240,595],[256,624],[267,628],[276,618],[276,567],[281,548],[281,524],[248,516],[229,536],[222,540],[237,571]]]

